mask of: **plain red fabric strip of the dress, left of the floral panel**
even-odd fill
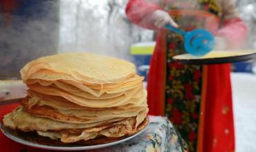
[[[157,45],[151,59],[149,76],[147,78],[147,104],[149,114],[163,116],[165,100],[165,70],[166,69],[166,45],[165,32],[161,31],[157,36]]]

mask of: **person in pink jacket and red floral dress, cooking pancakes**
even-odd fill
[[[170,118],[188,143],[184,151],[235,151],[230,64],[177,63],[172,56],[185,52],[183,37],[164,28],[205,28],[215,36],[215,50],[237,49],[247,28],[234,1],[130,0],[126,14],[158,33],[147,80],[149,114]]]

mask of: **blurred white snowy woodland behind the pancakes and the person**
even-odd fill
[[[153,40],[153,31],[127,20],[128,0],[60,0],[60,52],[89,51],[131,59],[130,46]],[[236,0],[248,25],[244,48],[256,48],[256,0]]]

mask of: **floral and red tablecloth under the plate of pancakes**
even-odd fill
[[[8,113],[15,107],[17,107],[17,104],[0,106],[0,116],[2,117],[4,114]],[[149,116],[149,120],[149,127],[143,133],[136,136],[136,138],[133,138],[127,142],[123,142],[122,144],[116,144],[115,146],[109,146],[102,149],[95,149],[89,152],[183,151],[183,148],[186,145],[181,139],[179,133],[177,133],[176,129],[174,129],[172,126],[172,123],[167,120],[167,118]],[[35,149],[13,142],[12,140],[6,138],[3,133],[0,133],[0,147],[1,152],[47,152],[43,149]]]

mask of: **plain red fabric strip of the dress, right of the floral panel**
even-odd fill
[[[203,151],[235,151],[230,65],[209,65]]]

